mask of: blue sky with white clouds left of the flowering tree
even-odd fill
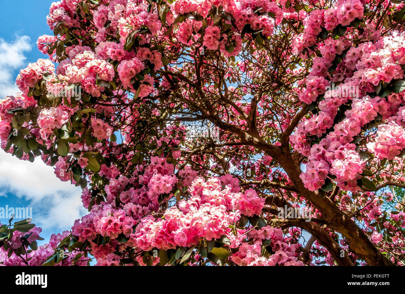
[[[47,58],[36,47],[43,34],[52,35],[46,23],[51,0],[0,0],[0,99],[17,92],[15,78],[20,69],[38,58]],[[69,230],[86,210],[81,189],[61,182],[39,158],[34,163],[12,157],[0,150],[0,209],[32,207],[32,222],[43,228],[41,244],[52,233]],[[2,224],[7,219],[0,219]]]

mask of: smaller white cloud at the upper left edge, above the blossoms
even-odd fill
[[[29,36],[16,36],[12,42],[0,38],[0,98],[17,94],[14,72],[26,63],[27,51],[31,51]]]

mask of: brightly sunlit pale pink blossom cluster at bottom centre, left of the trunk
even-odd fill
[[[143,250],[191,247],[201,238],[212,240],[230,234],[230,224],[240,218],[239,211],[230,211],[235,196],[229,190],[221,191],[219,179],[205,182],[197,177],[190,189],[193,196],[188,201],[181,200],[179,208],[167,209],[164,218],[155,220],[149,215],[141,219],[131,237],[135,247]]]

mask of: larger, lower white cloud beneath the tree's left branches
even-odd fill
[[[32,207],[33,222],[44,230],[70,228],[87,213],[81,188],[60,181],[40,158],[31,163],[0,150],[0,190],[26,200]]]

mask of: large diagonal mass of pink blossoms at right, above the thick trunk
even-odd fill
[[[334,58],[334,54],[339,54],[347,47],[344,44],[339,45],[336,40],[335,45],[332,46],[332,44],[325,42],[325,45],[321,47],[323,58],[319,59],[319,64],[320,60],[324,60],[326,64],[330,63],[330,60]],[[323,49],[328,46],[328,50]],[[370,96],[364,96],[364,94],[365,92],[375,91],[375,85],[382,81],[389,82],[392,79],[403,77],[403,70],[395,63],[392,52],[396,51],[398,47],[404,46],[405,38],[403,34],[396,34],[396,38],[384,37],[377,41],[375,45],[371,42],[364,43],[358,47],[351,47],[347,51],[339,71],[345,70],[346,75],[348,72],[352,72],[352,77],[347,77],[344,83],[339,84],[339,95],[335,95],[336,90],[324,92],[324,99],[318,104],[319,114],[303,119],[294,130],[294,134],[290,136],[294,149],[304,156],[308,156],[307,170],[301,175],[301,179],[303,179],[307,188],[310,190],[319,189],[324,185],[324,180],[330,173],[337,177],[336,181],[341,188],[345,190],[357,189],[356,179],[360,178],[360,173],[364,168],[364,161],[354,151],[355,145],[350,143],[360,134],[361,128],[373,121],[378,114],[382,115],[383,119],[388,119],[398,113],[397,116],[392,117],[392,120],[401,121],[399,109],[404,103],[402,93],[390,94],[386,99],[378,96],[371,98]],[[332,55],[330,55],[331,53]],[[397,58],[402,57],[399,55]],[[311,84],[313,79],[326,77],[326,71],[318,64],[314,63],[313,69],[315,73],[313,71],[311,75],[314,76],[308,79],[310,84],[308,84],[307,80],[307,88],[299,95],[300,99],[306,103],[315,101],[318,96],[314,86]],[[373,72],[373,75],[369,75],[371,72]],[[321,76],[317,77],[317,74]],[[351,90],[343,91],[341,89]],[[360,97],[356,98],[353,94],[360,95]],[[350,109],[345,111],[345,118],[333,125],[333,118],[337,115],[339,107],[348,103],[350,103]],[[322,137],[326,130],[330,129],[333,130],[328,132],[320,143],[311,146],[314,137]],[[375,143],[368,143],[367,147],[377,158],[393,159],[403,149],[402,141],[392,139],[394,140],[392,142],[396,142],[392,145],[392,142],[388,143],[388,138],[380,134],[389,130],[388,134],[392,132],[392,134],[398,136],[403,133],[403,128],[390,123],[389,125],[379,126],[379,129],[381,131],[378,132]]]

